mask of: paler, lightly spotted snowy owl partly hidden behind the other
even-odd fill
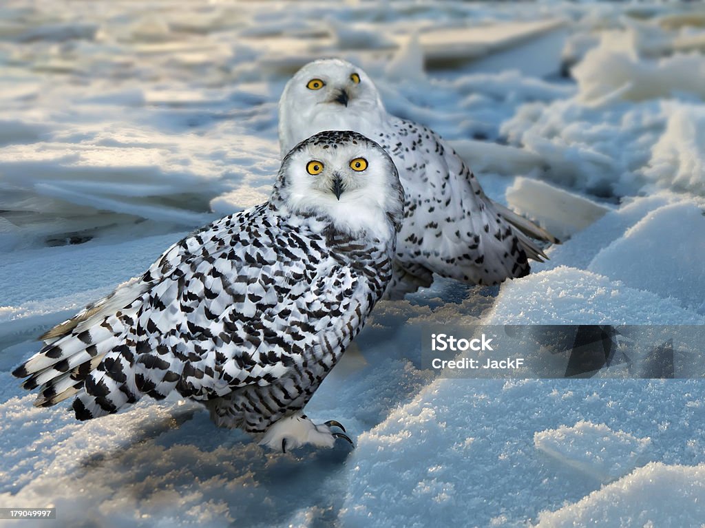
[[[406,202],[388,295],[428,286],[432,272],[471,284],[498,284],[546,258],[527,235],[557,242],[527,219],[491,201],[460,156],[433,130],[391,116],[372,80],[351,63],[308,63],[279,102],[279,142],[288,152],[320,130],[372,137],[396,164]]]

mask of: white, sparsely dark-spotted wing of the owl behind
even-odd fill
[[[529,258],[546,257],[522,233],[533,224],[494,204],[439,135],[403,119],[391,123],[389,152],[407,195],[407,217],[397,244],[401,266],[415,264],[461,281],[496,284],[528,274]]]

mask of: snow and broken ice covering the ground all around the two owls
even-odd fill
[[[705,324],[704,27],[697,3],[4,2],[0,507],[77,527],[704,524],[701,380],[442,379],[418,332]],[[10,374],[32,339],[265,199],[283,83],[332,54],[566,238],[551,260],[381,303],[307,409],[353,451],[270,453],[178,398],[85,424],[32,407]]]

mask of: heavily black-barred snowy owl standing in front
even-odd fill
[[[80,420],[176,391],[270,447],[349,441],[302,409],[391,279],[403,201],[375,142],[309,137],[283,159],[268,202],[170,247],[45,333],[13,374],[39,387],[37,406],[76,395]]]

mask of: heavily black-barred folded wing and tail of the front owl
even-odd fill
[[[78,393],[79,419],[144,394],[207,399],[285,375],[321,333],[357,329],[369,303],[364,281],[328,259],[324,242],[276,221],[259,207],[181,240],[142,277],[45,334],[14,374],[40,386],[35,405]]]

